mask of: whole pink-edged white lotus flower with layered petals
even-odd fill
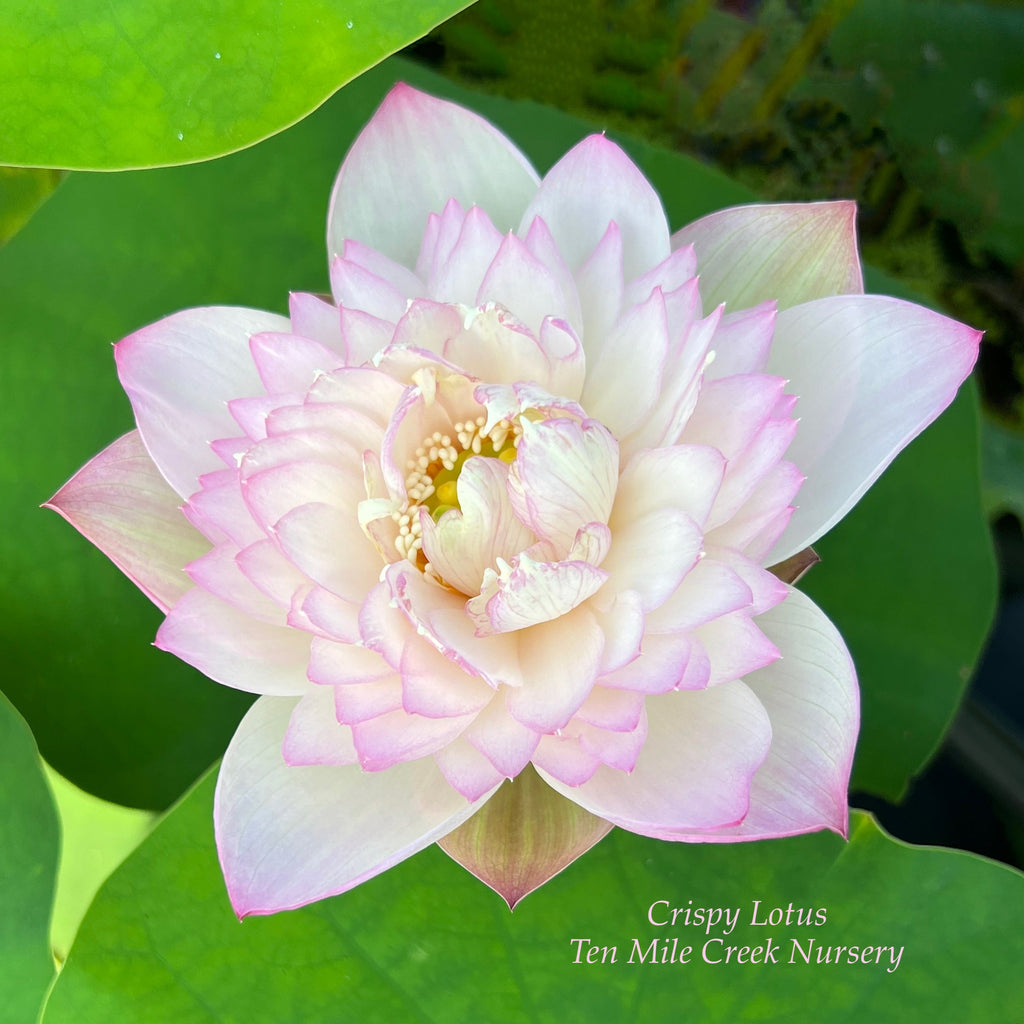
[[[603,136],[542,180],[402,85],[328,244],[330,301],[118,344],[138,429],[51,503],[158,646],[260,694],[216,795],[237,912],[435,841],[514,904],[611,825],[845,834],[856,678],[786,581],[978,333],[862,294],[852,204],[670,236]]]

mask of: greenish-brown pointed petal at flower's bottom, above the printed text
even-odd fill
[[[610,828],[527,768],[439,845],[514,909]]]

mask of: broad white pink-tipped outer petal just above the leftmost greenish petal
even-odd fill
[[[226,402],[262,391],[249,339],[290,329],[274,313],[209,306],[167,316],[114,347],[146,451],[182,498],[220,467],[210,442],[238,433]]]

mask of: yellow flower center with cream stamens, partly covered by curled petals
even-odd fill
[[[482,456],[500,459],[508,465],[515,461],[522,428],[510,420],[499,420],[484,433],[486,422],[485,416],[478,416],[456,423],[453,434],[435,430],[423,439],[406,464],[409,501],[392,513],[398,524],[394,546],[399,555],[428,574],[431,569],[423,555],[420,509],[425,508],[434,521],[452,509],[461,510],[459,474],[470,459]]]

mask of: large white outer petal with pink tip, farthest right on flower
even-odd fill
[[[800,396],[786,459],[807,482],[768,564],[809,547],[853,507],[952,401],[980,340],[930,309],[877,295],[779,313],[768,369]]]

